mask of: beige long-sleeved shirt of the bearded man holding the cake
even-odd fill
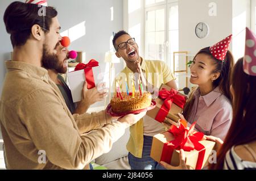
[[[8,169],[84,169],[125,132],[105,111],[72,115],[46,69],[17,61],[6,67],[0,123]]]

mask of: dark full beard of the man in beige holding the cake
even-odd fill
[[[57,54],[49,53],[46,44],[43,45],[42,66],[45,69],[56,70],[60,74],[67,72],[67,68],[63,67],[63,62],[59,62]]]

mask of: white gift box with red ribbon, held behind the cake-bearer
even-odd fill
[[[93,89],[102,82],[104,75],[96,60],[90,60],[88,64],[78,64],[75,71],[67,74],[73,102],[79,102],[82,98],[82,87],[87,82],[87,89]]]

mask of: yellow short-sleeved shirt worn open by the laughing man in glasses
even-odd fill
[[[143,73],[146,75],[146,79],[154,87],[160,87],[162,83],[168,83],[175,79],[174,74],[168,68],[168,65],[159,60],[142,60],[141,65]],[[125,69],[118,74],[116,79],[122,79],[122,76],[129,77],[131,80],[133,71],[131,71],[127,66]],[[129,90],[132,90],[131,82],[127,82]],[[124,85],[124,84],[121,84]],[[125,87],[120,87],[122,91],[126,91]],[[139,120],[136,124],[130,127],[130,138],[126,145],[127,150],[133,154],[135,157],[142,157],[143,149],[143,119]]]

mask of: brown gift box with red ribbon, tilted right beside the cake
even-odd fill
[[[156,107],[147,111],[148,116],[160,123],[164,122],[166,117],[177,122],[180,119],[178,113],[182,113],[187,96],[162,84],[159,89],[159,96],[154,100]]]

